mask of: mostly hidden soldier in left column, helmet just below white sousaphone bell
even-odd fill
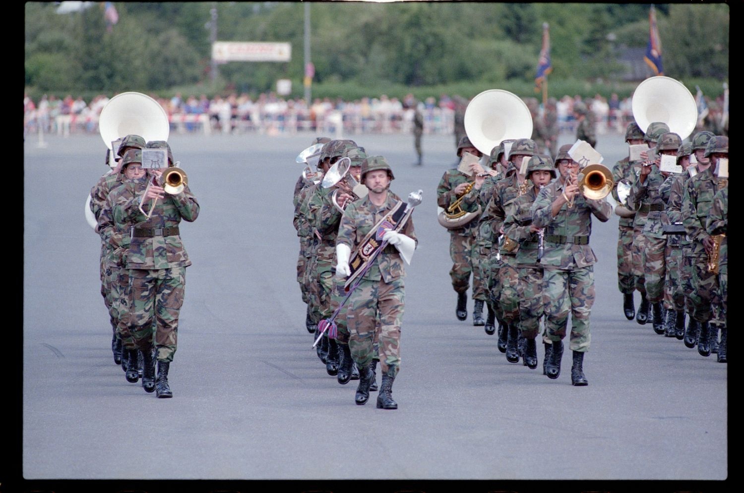
[[[109,196],[109,192],[115,187],[118,187],[124,179],[124,175],[121,173],[121,156],[129,149],[143,149],[145,144],[144,138],[141,138],[139,135],[126,135],[122,139],[121,144],[119,144],[118,149],[115,149],[118,156],[117,164],[108,162],[111,153],[106,151],[106,162],[112,169],[104,173],[91,189],[91,211],[96,220],[98,220],[100,211],[106,204],[106,197]],[[121,364],[122,343],[121,339],[116,336],[116,328],[118,326],[118,320],[116,320],[117,310],[112,308],[113,304],[116,303],[115,300],[112,300],[112,296],[116,296],[116,289],[112,288],[112,283],[116,283],[116,274],[112,269],[115,269],[116,265],[112,265],[106,259],[113,260],[111,245],[102,241],[100,248],[100,294],[103,296],[103,302],[106,304],[106,309],[109,310],[109,318],[111,319],[113,332],[111,349],[114,352],[114,362]]]

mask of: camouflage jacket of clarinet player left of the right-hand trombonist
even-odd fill
[[[536,198],[535,187],[529,187],[524,195],[516,197],[505,207],[504,236],[519,245],[514,253],[516,253],[516,265],[520,267],[539,268],[541,266],[537,261],[539,236],[530,231],[532,204]]]

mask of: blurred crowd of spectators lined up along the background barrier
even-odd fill
[[[268,135],[295,132],[320,132],[327,135],[359,135],[365,133],[411,132],[414,108],[420,110],[424,119],[424,133],[452,134],[455,113],[464,112],[467,101],[461,97],[442,94],[437,100],[415,100],[408,94],[403,100],[382,94],[379,97],[364,97],[359,100],[332,100],[328,97],[315,99],[310,106],[304,99],[285,99],[275,93],[260,94],[251,98],[248,94],[217,95],[208,98],[192,94],[182,97],[177,93],[168,99],[155,98],[163,107],[174,132],[242,133],[259,132]],[[580,96],[568,95],[560,99],[551,98],[561,132],[574,131],[574,103]],[[27,94],[23,100],[24,136],[36,132],[70,135],[80,132],[98,132],[98,116],[109,97],[100,94],[86,103],[83,97],[68,95],[62,100],[54,95],[44,95],[33,101]],[[632,121],[632,101],[620,99],[612,94],[608,100],[597,94],[583,99],[591,110],[597,133],[625,131]],[[720,102],[709,101],[709,117],[720,119]],[[539,116],[542,117],[541,107]]]

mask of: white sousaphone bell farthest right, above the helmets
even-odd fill
[[[693,132],[698,117],[695,98],[689,89],[679,80],[663,75],[638,84],[633,92],[632,112],[635,123],[644,132],[651,123],[661,121],[682,140]]]

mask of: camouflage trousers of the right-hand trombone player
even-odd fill
[[[589,315],[594,304],[594,265],[562,271],[545,266],[542,277],[545,329],[551,342],[562,341],[571,313],[571,351],[589,351]]]

